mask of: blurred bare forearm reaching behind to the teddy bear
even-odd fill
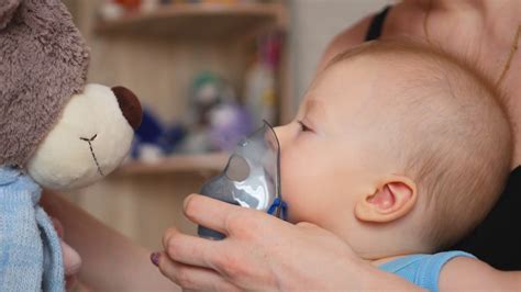
[[[48,191],[42,205],[62,222],[65,242],[82,258],[79,278],[93,291],[179,290],[151,263],[148,250],[84,210]]]

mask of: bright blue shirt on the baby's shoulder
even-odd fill
[[[437,280],[443,266],[455,257],[475,258],[464,251],[445,251],[434,255],[411,255],[388,261],[379,268],[398,274],[429,291],[437,292]]]

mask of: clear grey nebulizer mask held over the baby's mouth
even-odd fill
[[[280,193],[280,145],[274,128],[265,122],[241,141],[224,170],[202,186],[201,194],[286,220],[287,206]],[[225,237],[204,226],[199,226],[198,234],[211,239]]]

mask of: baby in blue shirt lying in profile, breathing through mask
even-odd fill
[[[437,290],[451,246],[491,209],[510,170],[498,93],[467,65],[408,42],[368,43],[315,78],[276,128],[290,222]]]

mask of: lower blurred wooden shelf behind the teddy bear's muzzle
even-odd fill
[[[160,175],[170,172],[220,171],[230,154],[195,154],[165,157],[156,162],[131,161],[118,168],[113,176]]]

